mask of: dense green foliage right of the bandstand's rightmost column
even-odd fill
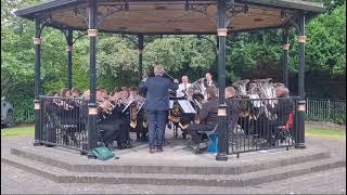
[[[313,18],[307,27],[307,64],[310,69],[346,74],[346,3],[331,14]]]

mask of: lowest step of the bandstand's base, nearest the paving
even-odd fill
[[[105,183],[105,184],[151,184],[151,185],[196,185],[196,186],[246,186],[284,180],[346,166],[345,159],[319,159],[294,165],[269,168],[242,174],[167,174],[124,172],[73,172],[8,155],[1,161],[60,183]]]

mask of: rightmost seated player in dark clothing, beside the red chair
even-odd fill
[[[284,126],[290,117],[290,113],[293,112],[294,104],[291,99],[286,99],[290,95],[290,91],[287,88],[283,86],[279,86],[275,88],[275,96],[279,98],[278,103],[272,107],[268,101],[266,101],[266,106],[270,110],[271,114],[277,114],[277,119],[268,120],[262,126],[264,136],[267,140],[267,143],[270,143],[272,146],[274,145],[274,141],[277,138],[275,132],[278,127]],[[266,129],[266,128],[269,129]]]

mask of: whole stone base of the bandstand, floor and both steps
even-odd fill
[[[20,138],[18,138],[20,139]],[[14,139],[15,140],[15,139]],[[150,154],[147,145],[115,150],[119,159],[88,159],[63,147],[34,146],[33,138],[1,145],[1,162],[60,183],[107,183],[196,186],[247,186],[345,167],[318,146],[291,147],[229,155],[194,155],[181,139],[168,139],[163,153]]]

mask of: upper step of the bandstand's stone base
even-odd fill
[[[52,157],[46,157],[41,154],[33,153],[28,150],[11,148],[13,156],[21,157],[23,159],[34,160],[40,164],[52,166],[55,168],[64,169],[73,172],[114,172],[114,173],[166,173],[166,174],[242,174],[247,172],[254,172],[270,168],[284,167],[290,165],[296,165],[301,162],[309,162],[330,157],[327,151],[320,150],[307,150],[306,153],[295,153],[295,151],[283,152],[282,155],[273,154],[268,158],[254,159],[230,159],[228,162],[210,162],[200,164],[184,161],[156,161],[151,164],[145,161],[136,160],[130,162],[118,160],[88,160],[87,164],[74,164],[73,161],[66,161],[61,159],[53,159]],[[233,161],[232,161],[233,160]]]

